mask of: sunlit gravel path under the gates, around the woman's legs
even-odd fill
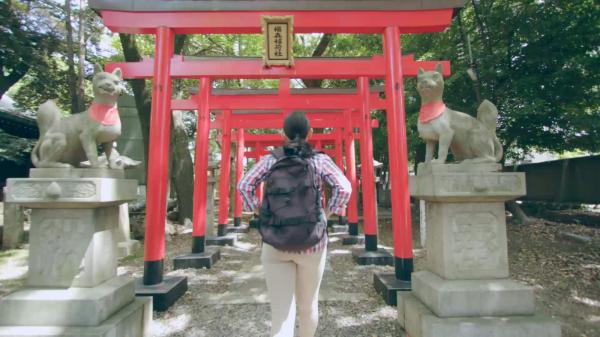
[[[212,269],[168,273],[187,276],[189,290],[168,311],[155,314],[152,336],[268,336],[270,314],[259,236],[251,231],[238,238],[234,247],[221,248],[221,260]],[[175,236],[167,245],[165,262],[187,253],[190,239]],[[351,250],[335,235],[328,248],[318,336],[397,336],[396,310],[372,286],[374,272],[392,272],[392,268],[357,266]],[[138,259],[127,261],[121,272],[141,276]]]

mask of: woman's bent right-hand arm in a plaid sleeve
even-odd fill
[[[329,156],[319,155],[318,160],[321,167],[321,177],[327,185],[331,186],[331,198],[327,204],[325,214],[327,217],[331,214],[342,215],[352,195],[350,181]]]

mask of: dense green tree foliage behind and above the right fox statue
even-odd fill
[[[460,19],[463,31],[455,22],[444,34],[411,36],[405,44],[452,61],[449,106],[476,111],[466,72],[475,66],[481,97],[499,108],[508,156],[600,150],[600,9],[594,1],[480,0],[469,2]]]

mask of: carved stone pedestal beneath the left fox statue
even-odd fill
[[[137,182],[109,169],[33,169],[7,201],[32,208],[26,287],[0,299],[0,336],[147,334],[151,299],[117,276],[119,207]]]

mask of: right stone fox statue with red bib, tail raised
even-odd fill
[[[498,109],[494,104],[483,101],[477,110],[477,119],[447,108],[442,99],[444,78],[439,64],[436,71],[419,69],[417,91],[421,96],[417,128],[427,143],[426,163],[445,163],[448,149],[457,162],[496,163],[502,159],[502,145],[496,137]],[[438,157],[434,159],[436,142]]]

